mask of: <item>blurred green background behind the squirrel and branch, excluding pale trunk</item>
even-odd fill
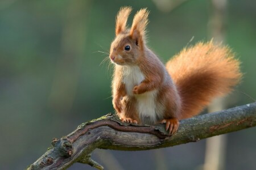
[[[0,1],[0,169],[26,168],[52,138],[113,112],[112,66],[101,64],[108,57],[101,52],[108,53],[115,15],[127,5],[131,16],[142,7],[151,11],[148,46],[163,62],[212,38],[211,1]],[[256,99],[256,1],[229,1],[224,14],[225,43],[245,73],[227,104],[234,107]],[[256,169],[256,129],[228,134],[225,150],[225,169]],[[151,151],[97,150],[93,158],[106,169],[201,169],[204,155],[202,140]],[[92,169],[70,169],[82,168]]]

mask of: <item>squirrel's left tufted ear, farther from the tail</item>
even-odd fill
[[[115,20],[115,35],[118,35],[120,32],[125,31],[126,22],[130,13],[131,7],[121,7],[117,14],[117,19]]]

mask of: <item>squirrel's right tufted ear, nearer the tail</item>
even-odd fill
[[[143,8],[135,14],[133,19],[133,25],[131,25],[130,36],[136,41],[136,44],[143,44],[146,39],[146,27],[148,24],[147,8]]]

